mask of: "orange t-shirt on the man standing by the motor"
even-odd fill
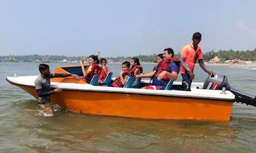
[[[197,58],[195,57],[196,53],[198,54]],[[194,65],[196,64],[196,61],[198,59],[202,59],[202,50],[199,45],[197,45],[197,49],[195,51],[194,45],[190,43],[182,49],[181,57],[185,58],[186,65],[188,65],[191,71],[194,71]],[[185,73],[184,67],[182,67],[180,71],[181,73]]]

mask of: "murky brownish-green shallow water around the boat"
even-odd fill
[[[38,75],[38,65],[0,62],[0,152],[256,152],[256,108],[245,104],[234,104],[230,123],[81,115],[63,109],[43,117],[35,98],[5,81],[14,73]],[[64,63],[49,65],[54,71]],[[108,66],[119,73],[120,65]],[[142,66],[144,71],[153,67]],[[207,67],[227,75],[232,87],[256,94],[256,67]],[[194,82],[207,77],[199,65],[195,74]]]

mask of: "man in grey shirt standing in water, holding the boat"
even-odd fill
[[[54,90],[51,90],[50,85],[50,79],[51,78],[64,78],[64,77],[79,77],[77,74],[61,74],[61,73],[51,73],[49,71],[49,65],[47,64],[40,64],[39,65],[39,71],[41,75],[37,77],[35,80],[35,89],[37,90],[37,94],[39,96],[38,98],[38,104],[43,109],[43,113],[46,115],[54,115],[54,111],[51,108],[50,104],[50,95],[58,92],[62,92],[62,89],[56,88]]]

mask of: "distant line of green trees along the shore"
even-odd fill
[[[175,57],[180,57],[179,53],[174,55]],[[227,61],[232,59],[241,59],[244,61],[256,61],[256,49],[253,51],[233,51],[232,49],[225,51],[209,51],[204,53],[203,57],[205,61],[213,59],[215,56],[221,58],[221,61]],[[1,61],[9,59],[10,57],[17,59],[18,61],[79,61],[80,57],[67,57],[64,55],[9,55],[9,56],[0,56]],[[156,54],[153,55],[137,55],[141,61],[144,62],[156,62]],[[122,62],[130,61],[132,57],[104,57],[108,61],[112,62]]]

